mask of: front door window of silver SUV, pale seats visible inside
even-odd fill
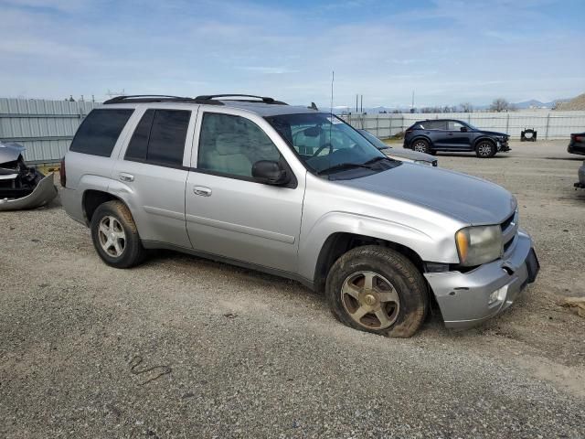
[[[206,113],[203,117],[198,169],[251,178],[257,161],[280,159],[278,148],[256,123],[228,114]]]

